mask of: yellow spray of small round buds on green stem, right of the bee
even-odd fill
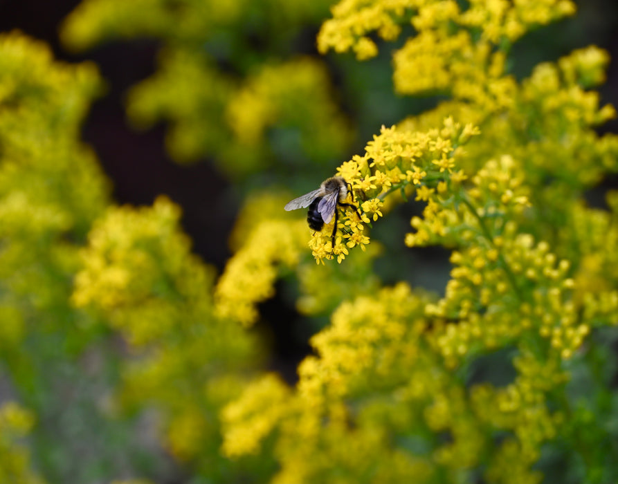
[[[558,260],[546,242],[534,245],[516,223],[529,207],[522,172],[510,157],[490,161],[465,192],[428,194],[423,218],[408,245],[458,245],[446,297],[428,306],[444,318],[437,345],[455,366],[471,345],[496,348],[535,328],[561,356],[572,356],[590,326],[579,322],[569,277],[570,263]],[[448,184],[447,184],[448,185]],[[455,185],[451,185],[451,188]]]

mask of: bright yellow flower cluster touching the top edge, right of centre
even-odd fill
[[[542,2],[453,0],[343,0],[318,35],[325,53],[354,50],[358,59],[378,53],[372,32],[387,41],[411,24],[417,35],[395,51],[399,93],[450,93],[491,110],[512,102],[514,79],[505,75],[505,54],[527,30],[572,15],[570,0]]]

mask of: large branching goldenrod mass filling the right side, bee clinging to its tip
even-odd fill
[[[536,483],[549,448],[581,455],[582,478],[615,476],[576,440],[586,432],[579,419],[588,418],[599,427],[586,441],[608,449],[614,434],[601,422],[612,410],[594,407],[594,398],[613,390],[602,375],[589,382],[593,398],[575,382],[599,358],[596,334],[615,325],[618,311],[615,195],[610,211],[583,203],[585,190],[617,169],[617,137],[593,131],[614,109],[588,91],[608,59],[594,47],[576,50],[517,82],[506,70],[511,42],[574,12],[568,1],[529,7],[342,1],[334,8],[322,50],[371,57],[368,32],[392,40],[411,18],[417,34],[394,54],[395,86],[451,100],[383,127],[363,155],[338,167],[354,194],[347,203],[356,201],[362,218],[343,207],[334,247],[327,226],[311,237],[313,257],[347,262],[357,246],[370,247],[367,225],[414,199],[424,208],[405,243],[450,249],[451,279],[443,297],[399,283],[343,301],[311,339],[316,355],[300,364],[291,395],[266,376],[224,411],[229,456],[274,454],[281,469],[273,482],[281,483],[335,475]],[[490,360],[509,362],[512,378],[475,375]]]

